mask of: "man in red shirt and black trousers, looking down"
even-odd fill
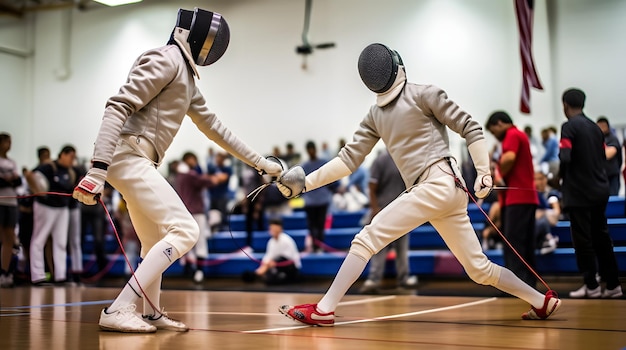
[[[502,203],[504,235],[522,258],[534,268],[535,211],[538,200],[534,190],[533,158],[528,136],[502,111],[491,114],[486,127],[502,142],[502,154],[497,167],[500,176],[496,176],[496,179],[501,178],[498,185],[507,186]],[[535,275],[507,245],[504,246],[504,264],[522,281],[535,287]]]

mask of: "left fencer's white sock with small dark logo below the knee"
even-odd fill
[[[114,312],[128,304],[136,304],[137,299],[142,296],[142,288],[149,287],[157,278],[160,280],[163,272],[179,257],[180,254],[170,243],[163,240],[157,242],[157,244],[148,251],[143,262],[135,271],[135,275],[131,276],[120,295],[117,296],[113,304],[107,309],[107,312]],[[139,282],[139,285],[137,282]],[[141,288],[139,286],[141,286]],[[145,289],[144,292],[148,293]]]

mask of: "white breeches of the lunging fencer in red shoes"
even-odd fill
[[[455,172],[458,174],[457,169]],[[398,237],[430,222],[472,280],[494,285],[501,267],[482,251],[467,215],[467,198],[467,193],[456,187],[448,162],[439,161],[355,236],[350,252],[369,260]]]

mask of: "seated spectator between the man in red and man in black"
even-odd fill
[[[535,189],[539,205],[535,212],[535,238],[541,255],[553,252],[559,237],[551,233],[561,215],[561,194],[548,186],[548,177],[541,171],[535,172]]]

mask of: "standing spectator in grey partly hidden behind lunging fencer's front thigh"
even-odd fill
[[[374,218],[380,210],[406,191],[404,180],[389,151],[384,149],[374,160],[369,173],[369,205],[370,215]],[[370,220],[371,221],[371,220]],[[391,248],[396,251],[396,281],[399,287],[413,287],[417,284],[417,276],[409,271],[409,234],[391,242],[370,259],[369,273],[361,293],[377,292],[385,272],[387,253]]]

